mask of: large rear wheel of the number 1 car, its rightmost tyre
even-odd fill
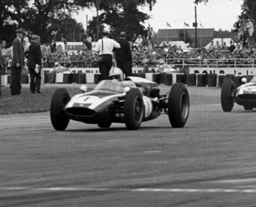
[[[175,128],[184,127],[189,115],[189,95],[183,83],[175,83],[168,97],[168,118]]]

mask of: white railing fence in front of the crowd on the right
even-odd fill
[[[166,59],[166,64],[183,68],[256,68],[256,59]]]

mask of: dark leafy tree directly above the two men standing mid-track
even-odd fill
[[[110,27],[111,34],[114,38],[119,36],[120,31],[126,31],[128,39],[136,34],[143,34],[145,27],[142,23],[150,18],[149,15],[139,11],[141,6],[148,6],[152,10],[156,0],[99,0],[100,31],[104,24]],[[96,7],[96,1],[95,5]],[[97,17],[89,22],[89,29],[96,33]]]

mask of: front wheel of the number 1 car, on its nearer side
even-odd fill
[[[126,92],[123,112],[126,128],[138,129],[144,116],[142,93],[138,88],[131,88]]]

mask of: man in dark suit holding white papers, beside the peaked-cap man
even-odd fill
[[[41,86],[41,66],[42,55],[40,44],[37,42],[40,39],[37,35],[32,35],[31,44],[28,48],[28,70],[30,76],[30,91],[40,93]]]

